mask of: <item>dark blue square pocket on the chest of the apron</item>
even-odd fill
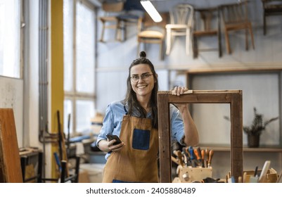
[[[132,148],[148,150],[150,148],[150,130],[134,129]]]

